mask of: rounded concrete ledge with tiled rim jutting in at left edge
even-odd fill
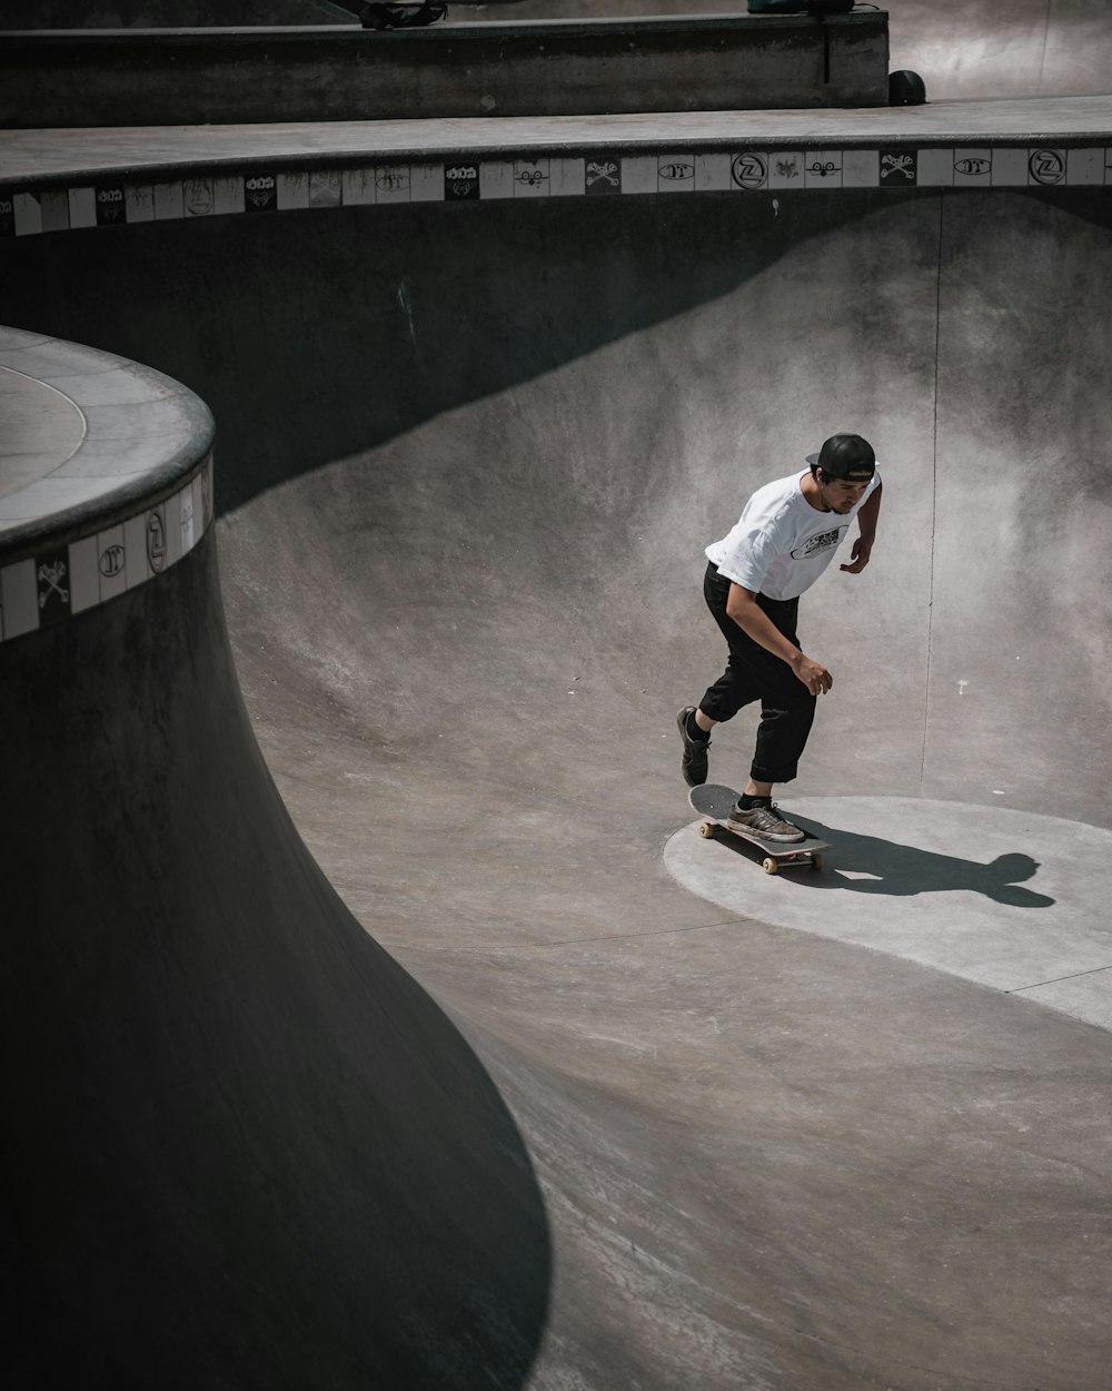
[[[0,328],[0,388],[6,641],[135,588],[196,545],[213,520],[214,427],[158,371],[14,328]]]

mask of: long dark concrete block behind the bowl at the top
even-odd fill
[[[888,17],[13,32],[8,128],[869,107]]]

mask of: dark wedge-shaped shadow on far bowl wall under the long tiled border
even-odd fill
[[[727,295],[877,207],[937,196],[584,196],[95,228],[10,242],[0,300],[13,327],[196,391],[227,512]],[[682,371],[662,364],[660,389]]]

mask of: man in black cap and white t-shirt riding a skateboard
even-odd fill
[[[860,574],[880,512],[880,474],[867,440],[831,435],[819,453],[808,455],[808,465],[758,488],[730,534],[706,548],[703,597],[730,657],[699,705],[685,705],[676,716],[684,782],[698,787],[706,782],[710,730],[760,701],[749,780],[728,823],[770,842],[803,839],[780,815],[773,785],[795,778],[817,697],[834,684],[826,666],[798,645],[799,595],[830,565],[853,517],[859,530],[841,569]]]

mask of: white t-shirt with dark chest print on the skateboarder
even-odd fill
[[[852,512],[819,512],[801,487],[809,470],[766,483],[745,504],[733,531],[706,548],[719,573],[770,600],[794,600],[834,559],[849,523],[880,485],[873,474]]]

